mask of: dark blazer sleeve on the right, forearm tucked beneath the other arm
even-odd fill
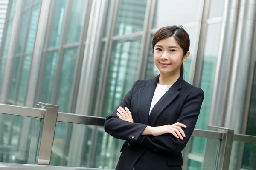
[[[204,91],[202,91],[200,88],[191,92],[191,94],[189,94],[187,97],[181,110],[181,114],[176,121],[187,126],[187,128],[181,127],[186,135],[183,140],[178,139],[172,134],[168,133],[160,136],[141,136],[137,143],[142,144],[145,147],[150,147],[155,151],[159,150],[165,153],[180,153],[192,135],[203,100]]]

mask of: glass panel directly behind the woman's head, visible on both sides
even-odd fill
[[[195,27],[192,28],[186,28],[185,29],[187,33],[189,34],[190,38],[190,56],[186,60],[186,62],[183,62],[184,65],[184,77],[183,79],[187,82],[189,81],[190,76],[190,66],[192,62],[193,52],[195,48]],[[154,64],[153,54],[152,54],[152,40],[153,40],[154,34],[151,35],[151,41],[149,43],[149,51],[148,51],[148,65],[146,70],[145,79],[152,79],[155,76],[159,74],[158,68]]]

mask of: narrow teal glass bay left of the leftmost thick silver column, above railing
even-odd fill
[[[41,1],[26,0],[23,4],[17,48],[14,49],[15,56],[11,56],[14,64],[8,95],[9,104],[24,105],[25,103],[40,8]]]

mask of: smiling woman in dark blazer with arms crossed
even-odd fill
[[[125,140],[116,170],[181,170],[181,151],[204,99],[200,88],[182,79],[189,46],[182,26],[163,27],[154,35],[154,63],[160,74],[137,80],[105,120],[105,131]]]

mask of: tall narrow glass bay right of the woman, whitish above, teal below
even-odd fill
[[[200,88],[204,91],[204,101],[195,126],[197,129],[207,129],[209,113],[212,103],[212,91],[215,81],[216,64],[218,59],[221,38],[221,26],[224,12],[224,0],[211,0],[207,19],[207,31],[204,41],[203,66]],[[191,153],[195,156],[204,156],[206,139],[194,137]],[[202,162],[197,159],[189,161],[189,169],[200,169]]]

